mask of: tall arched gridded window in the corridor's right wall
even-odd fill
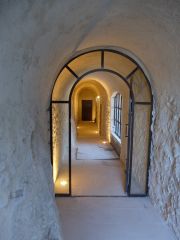
[[[121,138],[121,111],[122,111],[122,96],[117,93],[114,97],[114,133],[118,138]]]

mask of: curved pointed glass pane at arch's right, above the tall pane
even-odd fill
[[[137,70],[131,78],[135,102],[150,102],[151,91],[141,70]]]

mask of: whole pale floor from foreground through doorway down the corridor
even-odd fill
[[[90,130],[88,138],[79,135],[79,151],[84,151],[83,140],[89,144],[85,152],[90,154],[83,160],[83,153],[82,159],[72,164],[72,194],[84,197],[56,198],[64,240],[173,240],[149,198],[125,196],[120,161],[101,160],[104,152],[97,146],[102,139],[97,138],[95,129]]]

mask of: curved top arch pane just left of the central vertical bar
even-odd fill
[[[80,77],[83,73],[101,68],[101,52],[84,54],[68,64],[68,66]]]

